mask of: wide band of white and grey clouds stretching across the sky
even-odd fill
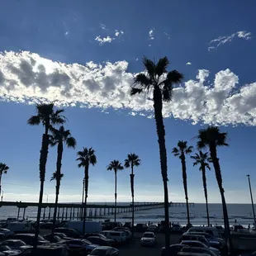
[[[152,95],[130,97],[135,73],[127,68],[125,60],[64,64],[26,51],[5,52],[0,55],[0,98],[26,104],[56,102],[61,107],[126,109],[133,116],[154,117]],[[238,76],[225,69],[209,83],[209,74],[209,70],[200,69],[196,78],[174,88],[173,101],[164,102],[164,117],[255,126],[256,82],[238,87]]]

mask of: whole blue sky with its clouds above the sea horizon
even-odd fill
[[[219,150],[226,201],[249,202],[246,174],[255,186],[256,3],[241,1],[3,1],[0,9],[1,162],[4,200],[37,201],[41,126],[26,125],[35,103],[64,107],[65,125],[78,141],[65,149],[60,201],[80,201],[83,170],[76,152],[96,150],[88,201],[114,200],[112,159],[139,154],[135,199],[163,201],[152,101],[129,96],[141,58],[166,55],[184,74],[164,105],[170,201],[184,201],[181,164],[171,155],[178,140],[208,124],[229,133]],[[54,201],[56,149],[50,149],[45,193]],[[118,200],[130,201],[130,170],[118,173]],[[220,202],[214,172],[209,201]],[[190,201],[204,202],[201,173],[187,159]],[[256,197],[256,190],[254,192]],[[46,196],[45,196],[46,197]]]

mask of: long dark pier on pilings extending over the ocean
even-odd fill
[[[20,217],[24,220],[26,218],[27,207],[37,207],[38,202],[21,202],[21,201],[0,201],[0,209],[2,206],[17,206],[17,219]],[[41,218],[50,219],[54,214],[55,203],[44,202],[42,203]],[[170,202],[170,207],[184,207],[185,202]],[[194,206],[194,203],[189,203],[189,206]],[[135,211],[146,211],[156,208],[164,208],[164,202],[135,202]],[[46,211],[47,209],[47,211]],[[58,220],[80,220],[82,217],[82,204],[81,203],[58,203],[57,219]],[[0,210],[1,211],[1,210]],[[129,213],[132,211],[130,204],[117,205],[116,214]],[[86,217],[100,219],[113,215],[115,206],[106,204],[87,204]],[[36,217],[36,216],[29,216]]]

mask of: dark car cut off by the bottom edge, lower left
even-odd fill
[[[12,254],[11,254],[12,255]],[[10,255],[10,256],[11,256]],[[36,249],[29,248],[26,249],[19,256],[68,256],[68,247],[63,244],[44,244],[37,246]]]

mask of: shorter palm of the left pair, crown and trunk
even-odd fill
[[[60,126],[59,130],[53,129],[51,130],[52,135],[50,135],[50,145],[55,146],[58,145],[57,148],[57,162],[56,162],[56,172],[53,173],[51,180],[56,180],[56,196],[55,196],[55,211],[54,211],[54,221],[52,226],[52,234],[55,232],[55,224],[56,224],[56,216],[57,216],[57,206],[59,199],[59,187],[60,180],[63,178],[63,174],[61,173],[61,162],[62,162],[62,154],[63,154],[63,144],[67,145],[68,148],[75,148],[77,142],[71,136],[69,130],[65,130],[64,126]]]

